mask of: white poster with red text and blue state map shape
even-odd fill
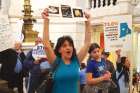
[[[104,42],[106,51],[131,50],[132,15],[104,18]]]

